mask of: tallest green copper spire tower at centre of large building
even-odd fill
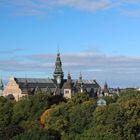
[[[53,77],[57,81],[57,84],[59,86],[61,86],[61,84],[63,82],[64,73],[62,70],[62,62],[61,62],[59,50],[57,53],[57,58],[56,58],[56,62],[55,62],[55,71],[54,71]]]

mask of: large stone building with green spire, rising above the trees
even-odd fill
[[[68,73],[67,79],[64,79],[59,52],[53,77],[53,79],[11,77],[4,88],[3,96],[18,101],[21,97],[34,95],[38,92],[52,95],[62,94],[66,98],[71,98],[78,92],[87,92],[94,97],[97,96],[97,91],[100,88],[96,80],[84,80],[81,73],[76,80],[71,78],[70,73]]]

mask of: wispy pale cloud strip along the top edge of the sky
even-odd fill
[[[10,7],[11,12],[22,16],[46,15],[50,10],[63,7],[91,12],[114,8],[135,16],[139,15],[140,0],[1,0],[0,7]]]

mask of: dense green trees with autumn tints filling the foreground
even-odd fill
[[[71,100],[42,93],[19,102],[0,97],[0,139],[139,140],[140,93],[104,98],[106,106],[86,93]]]

